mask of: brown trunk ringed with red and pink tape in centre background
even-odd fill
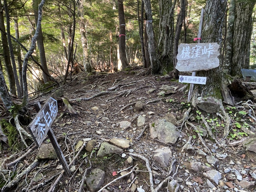
[[[118,19],[119,19],[119,55],[122,63],[120,70],[129,66],[125,51],[125,20],[123,0],[118,0]]]

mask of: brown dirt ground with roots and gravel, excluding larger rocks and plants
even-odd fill
[[[91,169],[99,168],[105,172],[103,185],[108,184],[120,176],[113,176],[113,172],[118,172],[127,168],[124,162],[129,156],[128,153],[131,149],[134,151],[133,153],[138,153],[148,158],[151,169],[159,173],[159,177],[157,179],[159,181],[163,181],[167,177],[166,174],[168,174],[168,171],[162,169],[158,163],[152,160],[152,151],[162,147],[169,147],[172,151],[172,158],[170,159],[169,164],[171,165],[173,163],[173,171],[170,175],[173,176],[173,178],[177,180],[180,185],[182,185],[178,191],[199,192],[210,190],[206,184],[206,178],[203,176],[202,172],[192,173],[186,168],[187,163],[195,160],[195,154],[186,154],[185,152],[181,152],[182,146],[187,143],[189,136],[193,136],[191,143],[193,143],[193,148],[195,150],[204,148],[201,140],[192,127],[187,124],[185,126],[184,124],[182,131],[185,133],[185,137],[179,139],[176,144],[172,146],[161,143],[158,140],[150,139],[148,126],[144,131],[142,138],[139,140],[135,139],[140,135],[144,128],[144,126],[137,126],[137,118],[139,115],[144,114],[146,118],[145,125],[150,125],[169,112],[173,112],[177,120],[180,120],[183,117],[184,112],[191,107],[190,103],[187,103],[188,93],[186,92],[186,84],[178,83],[178,80],[171,80],[169,76],[144,75],[146,72],[147,71],[142,68],[136,68],[114,74],[106,74],[101,72],[97,72],[91,76],[78,74],[72,77],[71,83],[68,83],[62,87],[64,90],[64,95],[62,97],[67,98],[71,106],[75,109],[74,113],[71,113],[70,111],[68,112],[68,109],[65,108],[64,104],[61,102],[61,99],[56,98],[59,105],[59,112],[57,115],[58,122],[52,125],[52,129],[60,148],[63,151],[65,159],[69,163],[70,160],[75,157],[77,153],[75,152],[75,146],[79,141],[90,138],[96,140],[97,143],[96,149],[92,153],[82,150],[78,158],[76,158],[72,164],[75,165],[77,169],[80,165],[80,170],[78,169],[75,174],[73,172],[72,177],[69,177],[64,173],[63,177],[54,188],[55,192],[78,192],[84,170],[89,167],[89,160],[91,162]],[[157,93],[162,91],[159,89],[162,87],[162,85],[178,87],[177,92],[169,95],[159,96]],[[114,86],[117,86],[115,87],[116,89],[113,88]],[[155,91],[153,93],[147,93],[150,89],[155,89]],[[45,101],[51,96],[53,91],[54,89],[46,94],[41,93],[40,97],[30,100],[30,103],[32,104],[39,101],[41,105],[44,105]],[[104,94],[100,95],[99,93]],[[138,111],[135,109],[136,102],[143,103],[142,110]],[[98,110],[92,109],[95,106],[98,107]],[[226,105],[224,107],[226,107]],[[198,116],[196,111],[196,109],[192,109],[190,114],[193,114],[193,116],[189,119],[189,121],[194,125],[202,124],[202,120],[196,118]],[[229,111],[230,110],[227,110],[227,112]],[[29,112],[30,114],[33,114],[33,116],[37,114],[33,108],[33,105],[30,105]],[[149,116],[148,112],[153,112],[153,115]],[[63,117],[59,118],[61,113],[64,113]],[[1,115],[2,117],[8,118],[8,114],[4,114],[2,111]],[[217,117],[216,114],[204,114],[204,116],[208,117],[209,119],[214,119]],[[220,122],[223,122],[220,117],[219,119]],[[124,120],[131,122],[132,128],[120,130],[120,128],[117,127],[117,123]],[[255,122],[247,116],[244,117],[244,120],[250,125],[249,129],[252,132],[255,132]],[[181,124],[176,125],[176,127],[181,129]],[[216,126],[214,130],[214,135],[219,142],[224,141],[225,144],[234,142],[234,140],[230,140],[230,138],[232,138],[231,135],[223,139],[222,127]],[[244,137],[245,135],[235,138],[235,140],[240,140]],[[124,150],[124,154],[127,154],[127,156],[123,158],[121,157],[122,154],[114,154],[104,158],[97,158],[97,146],[99,147],[102,142],[111,138],[123,138],[131,141],[131,146],[127,150]],[[227,154],[226,158],[219,159],[218,163],[215,165],[215,167],[213,167],[214,169],[223,170],[224,167],[231,165],[230,161],[232,160],[235,162],[235,165],[232,166],[237,166],[239,165],[237,162],[241,162],[241,166],[237,167],[238,169],[243,169],[242,166],[247,165],[252,167],[250,170],[251,172],[255,171],[256,165],[254,164],[252,158],[247,157],[247,155],[241,156],[241,154],[244,154],[241,152],[244,151],[244,148],[242,148],[241,145],[220,148],[216,147],[215,142],[210,140],[210,138],[205,137],[203,139],[210,150],[214,149],[212,150],[214,151],[213,154]],[[18,140],[18,142],[20,141]],[[49,140],[46,139],[44,143],[49,143]],[[27,151],[27,149],[23,149],[22,151],[17,151],[13,154],[13,152],[8,150],[9,147],[5,146],[4,144],[2,145],[3,150],[0,152],[1,159],[7,157],[11,158],[1,162],[1,169],[7,169],[6,164],[19,158]],[[34,144],[31,144],[31,146],[34,146]],[[19,174],[35,160],[37,152],[38,148],[35,148],[33,152],[29,153],[18,163],[15,163],[14,166],[9,167],[8,170],[12,170]],[[84,157],[86,155],[87,157]],[[203,164],[207,163],[204,159],[197,159],[197,161],[201,161]],[[134,158],[133,165],[136,164],[138,164],[140,172],[134,172],[133,175],[121,178],[120,180],[110,184],[106,189],[113,192],[130,191],[129,180],[132,181],[133,178],[138,177],[137,185],[143,186],[143,189],[146,192],[150,191],[149,173],[146,167],[146,162],[142,159]],[[26,190],[30,191],[30,189],[37,186],[37,184],[48,181],[49,178],[61,172],[59,165],[60,162],[57,159],[39,162],[37,167],[35,167],[29,174],[24,176],[17,185],[10,189],[10,192]],[[129,170],[131,170],[131,168]],[[36,172],[39,172],[43,176],[43,179],[38,182],[29,183],[29,179],[33,178]],[[88,172],[90,172],[90,170],[88,170]],[[224,180],[224,174],[222,175],[222,178],[223,182],[228,181]],[[49,191],[56,179],[57,177],[54,177],[52,180],[46,182],[43,187],[38,187],[37,189],[34,189],[34,191]],[[8,182],[10,182],[10,180]],[[238,188],[235,180],[231,179],[230,181],[233,182],[234,188]],[[251,181],[255,180],[252,179]],[[22,182],[25,185],[21,185]],[[163,185],[158,192],[166,192],[166,186],[167,185]],[[215,191],[227,190],[221,185],[216,186]],[[83,186],[82,191],[88,191],[86,185]],[[229,191],[234,190],[231,187],[229,188]]]

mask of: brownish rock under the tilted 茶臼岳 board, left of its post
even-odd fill
[[[57,154],[52,146],[52,143],[42,144],[39,148],[37,159],[56,159]]]

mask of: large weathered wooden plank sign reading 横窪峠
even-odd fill
[[[180,44],[178,46],[178,71],[209,70],[219,66],[219,44]]]

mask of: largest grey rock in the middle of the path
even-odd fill
[[[150,138],[158,139],[167,144],[175,144],[179,137],[183,137],[184,133],[177,129],[175,125],[160,119],[150,124]]]

